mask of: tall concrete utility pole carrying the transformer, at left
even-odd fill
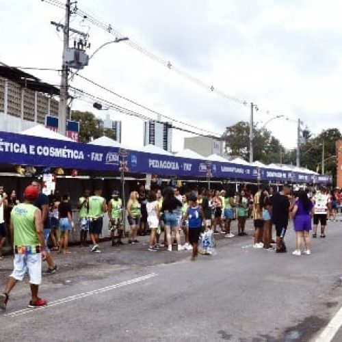
[[[69,25],[70,25],[70,0],[66,0],[65,23],[63,27],[63,55],[62,55],[62,77],[60,89],[60,111],[58,130],[66,135],[66,116],[68,114],[68,65],[66,64],[66,51],[69,49]]]

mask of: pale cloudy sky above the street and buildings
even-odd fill
[[[224,94],[256,103],[259,127],[283,115],[265,128],[287,148],[296,146],[298,118],[316,134],[342,129],[340,0],[79,0],[77,5],[172,66]],[[63,23],[64,11],[41,0],[1,1],[0,61],[60,68],[62,33],[50,21]],[[89,33],[90,55],[114,39],[79,16],[73,16],[71,26]],[[60,83],[56,72],[31,73]],[[249,120],[250,105],[198,86],[125,42],[98,51],[79,74],[161,114],[218,134]],[[79,77],[71,85],[156,118]],[[96,112],[81,99],[73,101],[73,109],[122,120],[122,143],[142,145],[142,120],[113,110]],[[185,136],[191,134],[173,132],[172,150],[183,149]]]

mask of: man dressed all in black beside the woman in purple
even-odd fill
[[[290,192],[291,189],[289,185],[285,184],[283,185],[281,192],[276,192],[269,198],[270,205],[272,206],[272,223],[276,226],[277,253],[287,252],[284,238],[287,225],[289,224]]]

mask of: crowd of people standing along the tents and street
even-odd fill
[[[33,181],[25,189],[24,202],[20,203],[15,192],[11,192],[8,197],[0,185],[1,259],[2,246],[8,235],[14,247],[14,271],[5,292],[0,295],[0,307],[6,307],[10,291],[18,280],[23,280],[26,272],[29,272],[31,283],[29,306],[46,305],[46,301],[38,298],[42,261],[46,261],[48,265],[45,274],[57,271],[57,265],[49,250],[49,241],[52,243],[52,250],[69,254],[70,231],[79,226],[80,246],[88,246],[89,234],[90,252],[100,253],[99,242],[103,235],[105,213],[109,217],[112,246],[124,244],[124,220],[127,218],[128,244],[139,243],[137,236],[146,235],[150,231],[148,251],[157,252],[160,248],[166,248],[169,252],[191,250],[193,261],[198,257],[201,234],[213,236],[223,233],[224,237],[231,239],[235,237],[233,222],[237,222],[237,236],[248,235],[245,229],[248,218],[253,219],[255,228],[253,248],[285,253],[285,234],[289,220],[293,219],[296,233],[293,255],[300,256],[311,254],[310,231],[313,229],[311,236],[317,238],[319,224],[319,236],[326,237],[327,220],[330,217],[336,218],[342,200],[339,189],[328,194],[325,187],[310,191],[282,185],[280,192],[274,192],[272,187],[261,185],[255,194],[249,192],[246,187],[242,187],[240,192],[212,189],[184,192],[181,190],[183,189],[169,186],[163,191],[146,191],[142,185],[137,191],[131,192],[124,208],[117,190],[114,190],[111,199],[106,201],[102,196],[102,187],[95,187],[93,194],[86,189],[77,203],[79,220],[78,224],[75,224],[69,194],[60,196],[59,192],[55,192],[51,196],[46,196],[42,193],[41,183]],[[10,228],[9,232],[6,226]],[[272,237],[273,226],[276,231],[275,241]],[[209,245],[205,246],[205,254],[211,254],[211,241],[214,243],[215,239],[209,240]],[[176,248],[172,248],[173,244]]]

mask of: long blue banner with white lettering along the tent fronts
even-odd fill
[[[55,168],[118,172],[122,158],[129,172],[163,176],[279,181],[282,183],[332,183],[326,175],[305,174],[205,159],[187,159],[129,150],[121,157],[118,148],[0,132],[0,163]]]

